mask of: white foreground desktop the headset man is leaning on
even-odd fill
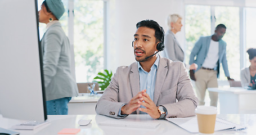
[[[215,132],[215,135],[228,135],[228,134],[255,134],[256,133],[256,114],[227,114],[227,115],[217,115],[219,118],[229,120],[230,122],[243,124],[247,129],[241,131],[218,131]],[[92,122],[87,126],[79,126],[78,120],[80,119],[92,119]],[[21,135],[51,135],[57,134],[63,128],[80,128],[81,131],[77,133],[81,134],[105,134],[105,135],[120,135],[120,134],[193,134],[185,131],[184,129],[178,127],[177,125],[168,122],[167,120],[155,120],[152,119],[149,115],[129,115],[124,119],[114,119],[109,118],[103,115],[49,115],[48,120],[51,121],[50,124],[44,125],[35,129],[34,131],[25,131],[25,130],[16,130],[20,132]],[[110,127],[98,125],[100,122],[105,120],[124,120],[124,121],[133,121],[133,122],[159,122],[160,125],[156,129],[141,129],[141,128],[127,128],[127,127]],[[0,115],[0,127],[10,129],[14,124],[18,124],[21,121],[2,118]],[[195,133],[194,135],[197,135]]]

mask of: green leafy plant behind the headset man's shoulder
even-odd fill
[[[112,75],[112,71],[109,72],[109,70],[105,69],[104,73],[99,72],[97,77],[93,78],[93,81],[98,82],[100,91],[104,91],[109,86]]]

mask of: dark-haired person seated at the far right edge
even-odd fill
[[[240,78],[242,87],[253,86],[256,79],[256,49],[250,48],[247,50],[247,53],[249,55],[250,66],[241,70]]]

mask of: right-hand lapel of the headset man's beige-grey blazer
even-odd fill
[[[167,74],[168,69],[167,67],[167,63],[164,59],[159,60],[159,64],[158,64],[158,71],[156,73],[156,82],[155,82],[155,91],[154,91],[154,103],[155,105],[158,104],[158,98],[160,96],[161,93],[161,88],[164,84],[164,80]]]

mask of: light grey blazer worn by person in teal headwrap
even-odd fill
[[[71,75],[71,46],[60,22],[46,30],[41,45],[46,100],[78,96],[77,82]]]

